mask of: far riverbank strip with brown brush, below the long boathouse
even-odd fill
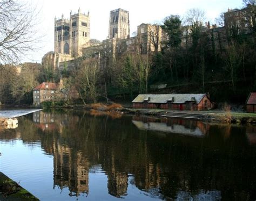
[[[202,121],[212,121],[217,123],[256,124],[256,113],[234,112],[229,110],[228,111],[224,111],[224,110],[178,111],[178,110],[163,110],[163,109],[133,109],[129,106],[130,105],[124,105],[124,104],[118,104],[118,103],[110,103],[110,104],[96,103],[96,104],[86,104],[86,105],[55,106],[55,107],[49,107],[49,108],[86,110],[86,111],[90,111],[90,113],[95,116],[110,115],[112,117],[118,117],[122,114],[137,114],[137,115],[142,114],[145,116],[163,117],[163,115],[165,115],[168,112],[186,114],[186,116],[189,116],[189,114],[191,114],[191,116],[193,114],[200,114],[199,120],[202,120]],[[32,110],[30,109],[30,112],[31,111]],[[6,113],[6,111],[4,112]],[[1,119],[1,112],[0,112],[0,121],[1,120],[3,120],[3,117]]]

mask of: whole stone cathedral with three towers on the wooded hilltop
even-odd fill
[[[163,38],[158,25],[141,24],[137,36],[130,37],[129,11],[116,9],[110,11],[109,34],[106,40],[93,43],[90,40],[90,12],[70,12],[70,18],[55,18],[54,52],[44,55],[42,64],[49,61],[53,68],[62,69],[64,65],[72,66],[75,58],[91,51],[104,56],[101,61],[113,61],[125,52],[139,51],[142,54],[160,51]],[[157,41],[157,42],[156,42]],[[111,62],[109,63],[111,64]]]

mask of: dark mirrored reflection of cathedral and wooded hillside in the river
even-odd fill
[[[87,196],[89,173],[100,170],[109,194],[118,198],[129,185],[161,199],[254,198],[253,166],[243,171],[256,161],[256,154],[248,154],[255,151],[253,126],[43,111],[32,121],[23,118],[16,135],[41,140],[53,156],[54,188],[68,188],[70,196]],[[243,183],[248,178],[250,184]]]

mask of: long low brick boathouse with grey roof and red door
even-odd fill
[[[207,94],[140,94],[132,101],[133,108],[170,110],[211,110]]]

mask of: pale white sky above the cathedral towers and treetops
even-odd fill
[[[122,8],[130,13],[130,33],[137,31],[142,23],[161,23],[170,15],[179,15],[181,18],[186,11],[199,8],[206,13],[206,20],[215,24],[215,18],[228,8],[241,8],[242,0],[30,0],[37,15],[37,35],[41,37],[35,52],[25,56],[24,62],[41,62],[44,54],[54,50],[54,19],[70,16],[70,11],[77,13],[90,11],[91,39],[104,40],[108,35],[109,13],[111,10]]]

